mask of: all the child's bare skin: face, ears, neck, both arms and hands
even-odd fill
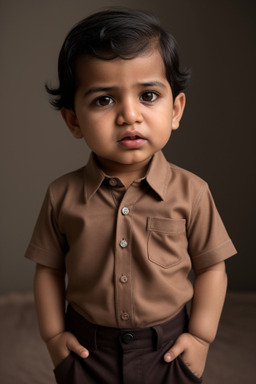
[[[62,109],[74,137],[83,138],[108,175],[129,185],[145,175],[152,155],[179,127],[185,96],[175,100],[157,49],[132,60],[103,61],[82,57],[77,63],[75,112]],[[224,262],[196,270],[189,332],[163,356],[166,363],[182,354],[198,377],[204,371],[224,303],[227,277]],[[86,346],[65,332],[65,276],[37,265],[34,281],[39,328],[54,365],[70,351],[89,356]]]

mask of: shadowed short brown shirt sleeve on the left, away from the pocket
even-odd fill
[[[48,189],[25,257],[50,268],[64,269],[68,245],[58,227]]]

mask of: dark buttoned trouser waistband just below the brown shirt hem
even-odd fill
[[[112,349],[162,347],[167,341],[174,341],[187,331],[188,315],[183,308],[174,318],[148,328],[111,328],[92,324],[77,313],[70,305],[66,315],[67,330],[72,332],[79,342],[91,350],[108,347]]]

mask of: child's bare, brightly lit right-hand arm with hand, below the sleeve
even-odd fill
[[[217,333],[226,290],[224,261],[196,272],[188,333],[182,334],[164,355],[166,362],[183,354],[191,371],[202,376],[209,345]]]

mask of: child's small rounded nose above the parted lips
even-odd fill
[[[139,101],[128,98],[119,103],[117,111],[118,125],[133,125],[135,123],[142,123],[142,121],[143,117]]]

